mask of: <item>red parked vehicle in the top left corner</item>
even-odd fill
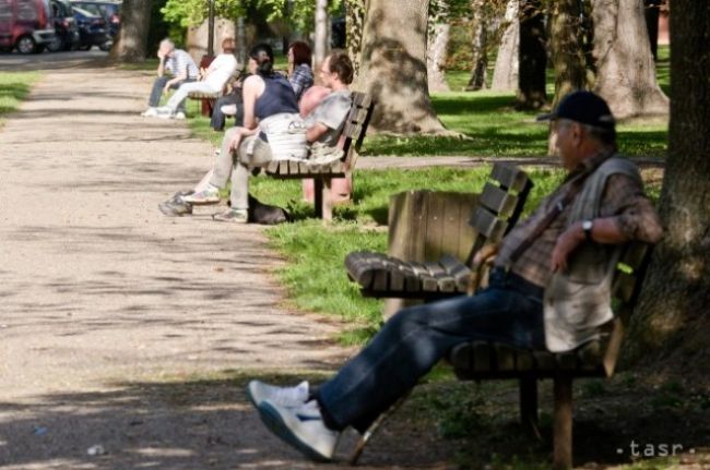
[[[42,52],[55,40],[49,0],[0,0],[0,49]]]

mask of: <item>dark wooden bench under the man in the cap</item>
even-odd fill
[[[529,431],[536,430],[537,424],[537,381],[554,381],[555,469],[572,466],[572,381],[611,377],[614,373],[648,260],[649,249],[643,243],[631,243],[625,250],[613,285],[615,317],[602,340],[558,354],[471,341],[454,347],[449,354],[449,362],[460,379],[518,379],[521,423]]]

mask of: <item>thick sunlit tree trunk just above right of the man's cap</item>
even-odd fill
[[[655,81],[641,2],[592,0],[594,91],[608,101],[616,118],[668,112],[668,98]]]

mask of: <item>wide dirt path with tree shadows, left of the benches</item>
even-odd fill
[[[212,148],[139,117],[149,74],[52,69],[0,130],[0,468],[310,467],[242,385],[331,371],[338,325],[283,308],[260,227],[157,212]]]

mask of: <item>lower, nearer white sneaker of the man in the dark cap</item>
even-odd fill
[[[298,408],[265,400],[258,408],[267,427],[286,444],[316,461],[332,460],[340,433],[326,427],[316,400]]]

